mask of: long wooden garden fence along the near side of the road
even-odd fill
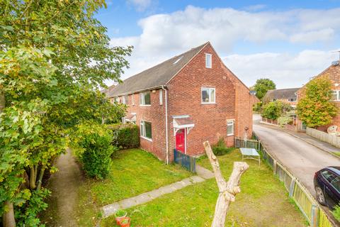
[[[261,157],[265,160],[273,170],[273,174],[276,175],[281,182],[285,185],[285,189],[289,192],[290,198],[292,198],[299,207],[302,214],[305,216],[311,227],[331,227],[331,218],[323,211],[312,194],[299,182],[299,180],[288,171],[273,155],[268,153],[266,148],[261,143],[261,140],[254,134],[254,138],[258,140],[258,147],[261,153]],[[238,142],[241,144],[240,142]],[[236,143],[235,143],[236,144]],[[250,145],[249,145],[250,146]]]

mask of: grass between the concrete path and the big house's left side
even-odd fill
[[[101,206],[152,191],[191,175],[178,165],[164,165],[144,150],[121,150],[113,158],[107,179],[86,179],[81,185],[74,216],[79,226],[94,226],[100,217]]]

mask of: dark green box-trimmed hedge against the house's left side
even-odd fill
[[[119,148],[140,147],[140,130],[132,123],[111,125],[113,129],[113,145]]]

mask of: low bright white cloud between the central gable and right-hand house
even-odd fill
[[[336,60],[336,54],[321,50],[303,50],[295,55],[262,52],[254,55],[222,57],[225,65],[247,86],[256,79],[270,78],[278,88],[301,87]]]

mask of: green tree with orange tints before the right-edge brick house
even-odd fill
[[[312,79],[305,88],[305,96],[297,103],[297,115],[308,127],[331,123],[338,109],[331,101],[331,81],[327,77]]]

